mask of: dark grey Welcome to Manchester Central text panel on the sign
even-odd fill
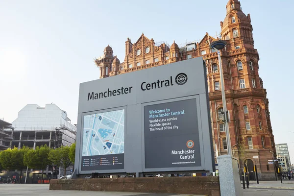
[[[201,166],[196,99],[144,107],[145,167]]]

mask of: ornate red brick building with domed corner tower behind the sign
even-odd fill
[[[269,100],[266,89],[259,77],[259,55],[254,49],[250,15],[241,9],[238,0],[229,0],[226,5],[226,17],[221,22],[221,39],[227,42],[221,51],[224,74],[225,94],[229,110],[231,145],[233,156],[240,165],[246,165],[253,178],[253,165],[257,166],[259,179],[275,179],[273,164],[269,160],[275,155],[269,112]],[[100,68],[100,78],[114,76],[154,66],[182,61],[202,56],[207,69],[207,82],[210,98],[210,112],[213,130],[215,158],[227,153],[223,116],[220,73],[217,52],[209,45],[216,39],[208,33],[200,42],[190,42],[183,47],[173,42],[155,43],[144,34],[136,43],[127,38],[125,57],[121,63],[113,55],[111,47],[96,59]]]

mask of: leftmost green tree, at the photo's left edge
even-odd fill
[[[25,153],[28,151],[27,147],[17,148],[14,147],[13,149],[8,148],[1,152],[0,156],[0,164],[7,170],[20,170],[20,181],[21,183],[21,176],[22,172],[25,169],[26,165],[24,164],[24,156]]]

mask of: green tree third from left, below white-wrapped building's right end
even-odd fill
[[[66,175],[66,169],[72,165],[70,159],[70,147],[58,147],[49,152],[49,160],[57,167],[64,168],[64,175]]]

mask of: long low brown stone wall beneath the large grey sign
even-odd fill
[[[62,179],[49,189],[221,196],[218,176]]]

